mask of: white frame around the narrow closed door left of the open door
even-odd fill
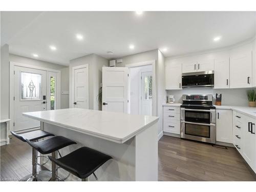
[[[72,67],[72,90],[71,90],[71,101],[72,103],[69,104],[70,108],[74,108],[75,105],[74,105],[74,99],[75,99],[75,92],[74,92],[74,89],[75,89],[75,70],[76,69],[81,69],[81,68],[87,68],[87,109],[89,109],[89,64],[84,64],[84,65],[80,65],[80,66],[75,66],[75,67]]]

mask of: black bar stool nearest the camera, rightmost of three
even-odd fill
[[[89,147],[81,147],[78,150],[56,159],[55,157],[48,156],[53,164],[57,164],[61,168],[67,170],[73,175],[79,177],[82,181],[88,181],[88,177],[106,161],[112,159],[111,156],[93,150]]]

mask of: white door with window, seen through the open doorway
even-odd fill
[[[152,115],[152,71],[141,72],[141,115]]]

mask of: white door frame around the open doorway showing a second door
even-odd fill
[[[156,98],[156,60],[149,60],[149,61],[127,64],[125,65],[125,67],[135,68],[135,67],[148,66],[148,65],[152,65],[152,115],[156,116],[156,99],[157,99]],[[129,83],[130,83],[130,78],[129,78]],[[129,92],[130,92],[130,89],[129,89]]]

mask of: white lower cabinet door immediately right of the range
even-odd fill
[[[216,140],[232,143],[232,111],[216,110]]]

